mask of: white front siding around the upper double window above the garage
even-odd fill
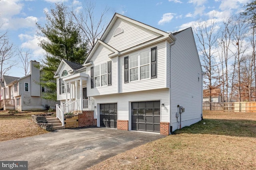
[[[166,43],[161,42],[155,45],[151,45],[144,49],[134,51],[134,53],[132,54],[150,50],[153,47],[157,47],[157,64],[156,64],[157,78],[150,78],[150,75],[151,75],[150,73],[149,78],[142,79],[140,81],[129,80],[129,83],[124,83],[124,57],[126,57],[127,55],[121,56],[119,59],[119,84],[120,84],[119,92],[120,93],[166,88]],[[131,67],[129,66],[129,68]]]

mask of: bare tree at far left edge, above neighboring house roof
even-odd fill
[[[7,33],[7,31],[0,33],[0,81],[2,81],[2,76],[16,65],[13,60],[16,56],[14,45],[9,42]]]

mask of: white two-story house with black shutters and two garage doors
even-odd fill
[[[191,27],[172,34],[114,14],[84,64],[62,60],[54,77],[57,115],[92,114],[98,127],[169,135],[202,119],[202,68]]]

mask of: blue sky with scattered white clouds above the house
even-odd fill
[[[82,10],[84,0],[0,0],[1,31],[8,30],[9,40],[16,47],[30,50],[31,60],[43,59],[44,51],[38,46],[36,25],[45,23],[44,11],[63,2],[66,6]],[[250,0],[94,0],[96,11],[106,6],[106,23],[115,12],[167,32],[176,32],[193,26],[198,20],[212,17],[218,21],[244,10]],[[97,14],[96,14],[97,18]],[[18,56],[16,57],[18,61]],[[24,76],[21,63],[8,72],[9,76]]]

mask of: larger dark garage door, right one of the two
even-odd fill
[[[132,130],[160,132],[160,101],[132,102]]]

